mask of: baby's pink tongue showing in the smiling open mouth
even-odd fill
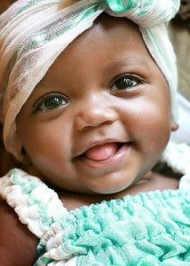
[[[115,142],[97,145],[86,151],[85,156],[90,160],[107,160],[118,150]]]

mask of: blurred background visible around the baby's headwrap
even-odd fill
[[[0,13],[4,12],[14,0],[0,0]],[[190,0],[181,0],[178,15],[169,25],[170,40],[178,59],[178,102],[179,129],[171,134],[171,139],[190,145]],[[18,162],[4,151],[2,126],[0,125],[0,176]]]

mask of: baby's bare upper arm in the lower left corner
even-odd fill
[[[1,265],[33,265],[38,239],[20,223],[18,216],[0,198],[0,254]]]

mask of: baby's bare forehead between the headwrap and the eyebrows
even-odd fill
[[[146,49],[139,27],[131,20],[112,18],[103,13],[92,27],[75,38],[60,53],[38,86],[43,86],[44,81],[48,82],[50,78],[56,82],[58,74],[61,76],[67,73],[68,66],[76,69],[78,65],[83,68],[83,65],[89,64],[91,67],[99,62],[101,66],[109,65],[111,68],[119,68],[123,64],[148,67],[147,60],[152,58]]]

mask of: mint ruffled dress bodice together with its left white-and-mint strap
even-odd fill
[[[68,212],[40,179],[14,169],[0,179],[0,194],[40,239],[35,265],[190,265],[189,189]]]

